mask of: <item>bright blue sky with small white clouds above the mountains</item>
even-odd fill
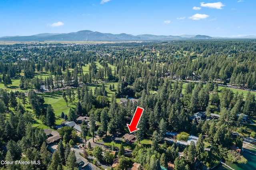
[[[256,35],[255,0],[0,0],[0,37],[112,34]]]

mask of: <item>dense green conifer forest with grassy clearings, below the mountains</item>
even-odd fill
[[[203,170],[221,159],[246,164],[232,145],[242,149],[244,138],[256,137],[255,68],[253,40],[0,45],[0,161],[41,162],[0,167],[74,170],[78,144],[98,168],[124,170],[136,162],[145,170],[170,164]],[[144,113],[136,141],[112,140],[116,132],[129,133],[126,124],[137,106]],[[205,117],[196,118],[198,113]],[[80,134],[56,128],[83,116],[89,122],[82,121]],[[53,153],[48,128],[61,136]],[[173,142],[188,140],[186,135],[198,136],[197,142]],[[92,142],[104,142],[118,155]]]

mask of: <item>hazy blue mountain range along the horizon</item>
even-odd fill
[[[246,36],[241,38],[256,38],[256,36]],[[5,36],[0,37],[0,41],[155,41],[155,40],[209,40],[219,39],[204,35],[181,35],[181,36],[156,36],[143,34],[133,36],[131,34],[110,34],[83,30],[70,32],[67,34],[37,34],[32,36]]]

